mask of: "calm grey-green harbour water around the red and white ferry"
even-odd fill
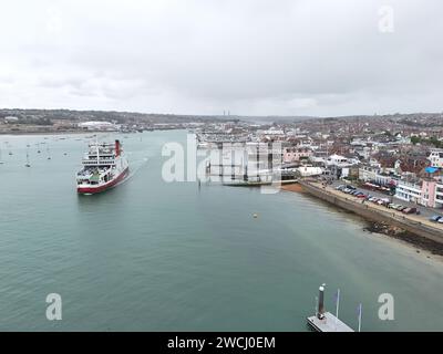
[[[0,136],[0,330],[307,331],[322,282],[354,329],[361,302],[363,331],[443,330],[440,260],[305,195],[163,181],[162,146],[186,132],[114,137],[132,177],[78,196],[84,135]],[[378,317],[381,293],[394,321]]]

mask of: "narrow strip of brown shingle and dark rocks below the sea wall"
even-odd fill
[[[298,187],[293,187],[295,185],[281,186],[281,189],[285,191],[300,192],[311,196],[301,185],[297,185]],[[371,220],[316,196],[311,197],[316,198],[317,200],[321,200],[328,206],[334,208],[336,210],[344,211],[347,214],[358,217],[365,223],[365,226],[363,227],[363,231],[368,232],[369,235],[381,236],[384,239],[389,239],[391,241],[408,246],[410,249],[415,250],[415,253],[422,253],[423,256],[426,256],[426,258],[433,257],[435,259],[439,259],[440,261],[443,261],[443,243],[426,239],[413,232],[406,231],[400,227],[391,226],[388,222]]]

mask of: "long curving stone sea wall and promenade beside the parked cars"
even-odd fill
[[[333,204],[342,209],[354,212],[363,218],[367,218],[377,222],[385,222],[388,225],[399,227],[403,230],[418,235],[420,237],[433,240],[435,242],[443,244],[443,232],[436,228],[431,228],[426,225],[423,225],[419,221],[413,221],[408,218],[403,218],[402,216],[398,216],[393,212],[389,212],[388,210],[379,210],[375,208],[371,208],[367,204],[357,202],[354,200],[350,200],[346,197],[338,197],[324,190],[320,187],[317,187],[309,181],[300,180],[299,184],[303,187],[303,189],[310,195],[322,199],[327,202]]]

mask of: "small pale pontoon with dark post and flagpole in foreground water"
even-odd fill
[[[324,284],[319,288],[319,299],[317,303],[316,315],[307,319],[311,329],[317,332],[354,332],[344,322],[338,319],[339,296],[340,291],[337,292],[337,314],[324,311]]]

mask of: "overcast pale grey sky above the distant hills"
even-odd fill
[[[2,0],[0,107],[442,112],[442,17],[441,0]]]

